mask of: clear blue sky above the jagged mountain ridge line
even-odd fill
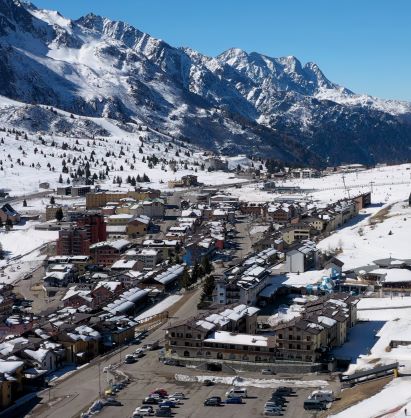
[[[411,101],[410,0],[33,0],[124,20],[207,55],[238,47],[316,62],[358,93]]]

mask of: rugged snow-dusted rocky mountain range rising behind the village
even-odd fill
[[[0,95],[34,107],[143,123],[227,154],[315,164],[411,158],[409,103],[356,95],[295,57],[207,57],[123,22],[72,21],[18,0],[0,0],[0,56]],[[14,123],[27,129],[37,111],[24,109]],[[10,120],[12,105],[0,122],[5,113]]]

